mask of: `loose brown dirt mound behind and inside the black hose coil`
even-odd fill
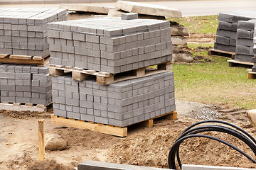
[[[132,138],[127,137],[111,147],[110,162],[168,168],[169,150],[182,131],[183,129],[178,128],[177,130],[157,128],[151,132],[137,134]],[[230,135],[223,135],[219,132],[208,132],[207,135],[213,135],[230,142],[253,156],[246,145]],[[255,164],[235,150],[213,140],[192,138],[183,142],[180,148],[182,164],[256,167]]]

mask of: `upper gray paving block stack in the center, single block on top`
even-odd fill
[[[88,18],[48,23],[50,64],[117,74],[172,60],[169,21]]]

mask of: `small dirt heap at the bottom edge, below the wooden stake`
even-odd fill
[[[63,164],[57,164],[54,160],[45,160],[42,162],[35,162],[28,170],[72,170],[71,166],[64,166]]]

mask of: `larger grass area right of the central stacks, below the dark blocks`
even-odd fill
[[[206,45],[188,45],[191,48]],[[207,55],[192,52],[193,55]],[[227,58],[210,57],[206,63],[174,64],[176,98],[225,105],[232,108],[255,108],[256,80],[247,79],[245,67],[229,67]]]

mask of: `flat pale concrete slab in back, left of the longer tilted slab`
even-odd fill
[[[60,4],[60,8],[66,9],[68,11],[82,11],[82,12],[92,12],[92,13],[105,13],[107,14],[110,9],[105,6],[95,6],[95,5],[85,5],[85,4]]]

